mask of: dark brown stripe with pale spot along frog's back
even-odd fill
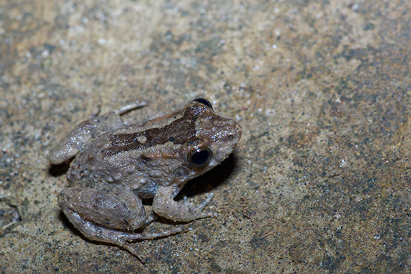
[[[195,121],[198,116],[198,113],[188,108],[181,118],[176,119],[168,125],[164,125],[164,127],[153,127],[142,132],[128,134],[114,134],[110,137],[110,145],[104,149],[105,155],[114,155],[136,149],[146,149],[156,145],[163,145],[166,142],[173,142],[175,145],[186,143],[194,144],[198,140],[195,136]],[[157,119],[152,121],[155,120]],[[151,121],[147,123],[150,122]],[[145,142],[138,142],[138,137],[145,137],[147,139]]]

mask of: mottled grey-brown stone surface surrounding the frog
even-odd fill
[[[0,273],[410,273],[410,36],[399,0],[0,0]],[[136,242],[145,265],[82,237],[51,146],[197,95],[243,129],[183,190],[217,218]]]

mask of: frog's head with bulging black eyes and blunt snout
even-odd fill
[[[241,137],[240,124],[214,112],[210,101],[197,98],[182,110],[173,142],[180,143],[180,163],[174,182],[186,182],[220,164],[236,149]]]

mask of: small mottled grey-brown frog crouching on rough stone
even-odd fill
[[[197,206],[190,206],[185,196],[182,202],[175,197],[190,179],[233,153],[242,129],[203,97],[149,121],[123,122],[123,114],[142,106],[145,103],[136,102],[91,116],[62,138],[47,158],[51,165],[71,160],[66,172],[69,186],[58,195],[58,206],[75,229],[145,262],[132,242],[188,230],[142,233],[158,216],[179,223],[216,216],[203,211],[212,192]],[[151,214],[146,214],[142,199],[152,199]]]

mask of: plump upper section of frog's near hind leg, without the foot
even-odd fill
[[[141,199],[121,187],[64,188],[58,204],[67,217],[75,213],[95,225],[112,229],[133,230],[146,223]]]

